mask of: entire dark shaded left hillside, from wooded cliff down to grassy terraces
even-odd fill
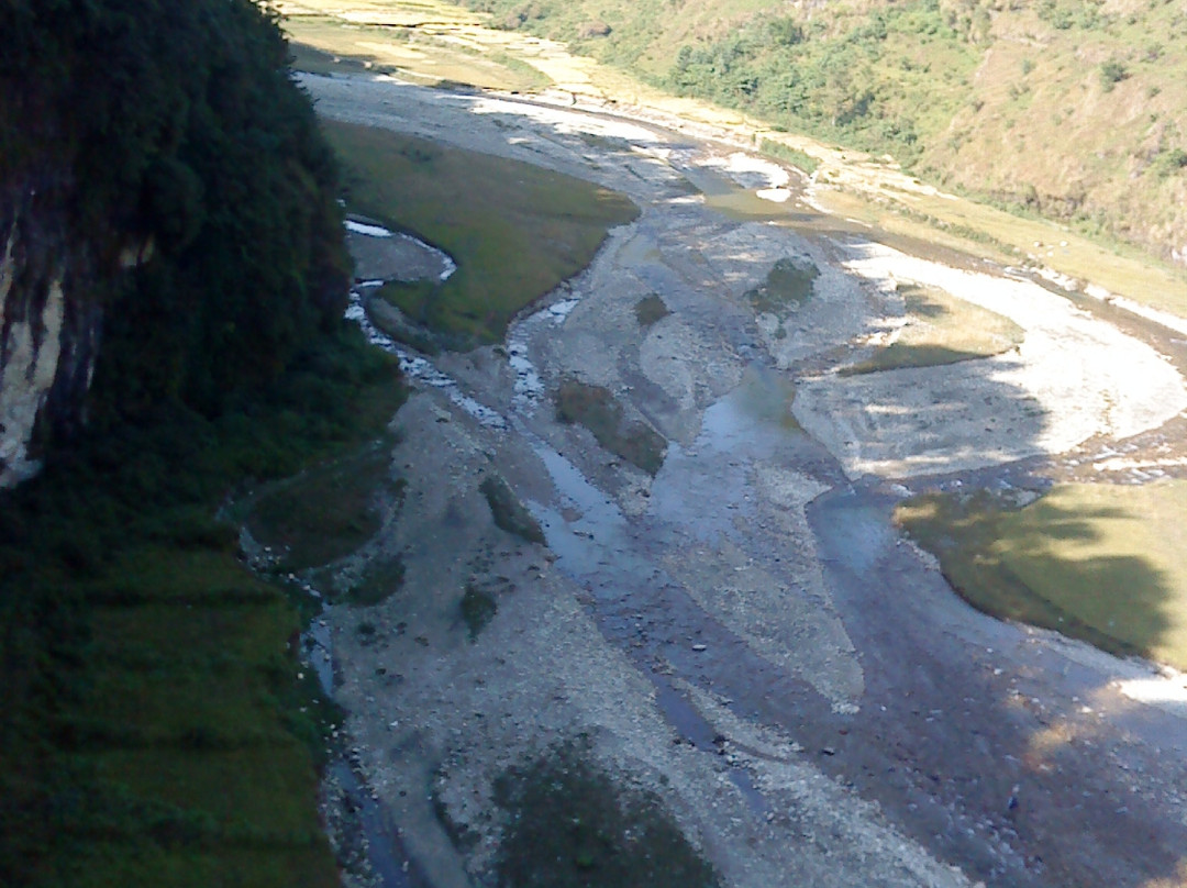
[[[332,154],[250,0],[0,33],[0,884],[336,884],[298,614],[217,515],[401,397]]]

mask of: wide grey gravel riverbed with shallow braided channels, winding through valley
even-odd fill
[[[432,884],[485,879],[499,776],[577,737],[658,793],[730,886],[1187,877],[1187,722],[1119,693],[1143,667],[976,614],[888,519],[912,476],[1026,484],[1046,453],[1163,426],[1187,407],[1172,363],[1028,281],[718,213],[688,178],[779,184],[732,148],[392,81],[304,83],[323,114],[527,159],[642,210],[506,353],[436,360],[459,395],[426,385],[396,418],[408,487],[385,545],[404,586],[332,617],[363,769]],[[748,294],[780,260],[817,267],[813,296],[760,312]],[[887,323],[891,279],[1010,316],[1022,348],[830,373]],[[642,324],[654,296],[669,313]],[[563,378],[664,436],[654,477],[557,421]],[[495,526],[494,475],[546,545]],[[471,639],[476,591],[497,613]]]

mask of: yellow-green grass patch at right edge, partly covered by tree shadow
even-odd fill
[[[1187,482],[1061,484],[1022,509],[928,495],[895,519],[978,609],[1187,668]]]

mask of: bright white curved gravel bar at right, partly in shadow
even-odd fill
[[[883,291],[914,281],[1004,315],[1016,351],[934,368],[806,382],[795,416],[850,477],[956,471],[1125,438],[1187,408],[1182,376],[1149,345],[1037,284],[862,245],[845,268]]]

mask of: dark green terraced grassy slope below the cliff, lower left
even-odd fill
[[[296,602],[215,516],[402,399],[343,325],[217,419],[166,405],[0,494],[0,883],[338,884],[316,798],[338,715],[298,678]]]

